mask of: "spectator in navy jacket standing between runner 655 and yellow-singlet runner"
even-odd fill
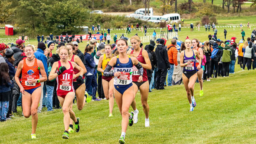
[[[87,69],[87,72],[85,73],[85,91],[88,92],[90,90],[90,87],[92,86],[95,90],[95,92],[92,92],[93,100],[94,101],[100,101],[101,99],[96,98],[96,90],[98,87],[96,77],[94,75],[95,66],[96,63],[94,62],[94,59],[91,55],[94,51],[93,45],[87,45],[84,49],[84,59],[86,61],[85,68]]]

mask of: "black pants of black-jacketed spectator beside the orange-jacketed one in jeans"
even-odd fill
[[[164,89],[164,82],[166,81],[167,69],[157,70],[157,86],[156,89]]]

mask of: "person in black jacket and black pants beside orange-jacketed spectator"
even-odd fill
[[[159,45],[157,45],[155,50],[157,54],[157,81],[155,83],[156,89],[165,89],[164,82],[166,81],[167,69],[170,69],[168,53],[164,43],[165,40],[160,39]]]

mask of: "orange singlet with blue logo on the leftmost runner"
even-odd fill
[[[23,68],[22,68],[22,77],[21,77],[21,85],[23,86],[24,89],[35,89],[38,86],[41,86],[41,83],[34,83],[34,84],[29,84],[27,80],[29,79],[39,79],[40,74],[39,74],[39,69],[38,69],[38,63],[37,59],[35,58],[35,62],[33,66],[28,66],[26,64],[26,59],[23,60]]]

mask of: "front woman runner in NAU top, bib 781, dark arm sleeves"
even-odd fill
[[[130,57],[126,54],[128,49],[128,44],[125,39],[120,39],[116,43],[119,55],[113,57],[103,75],[106,77],[114,77],[114,94],[116,98],[116,104],[122,115],[122,133],[119,138],[119,143],[125,143],[125,132],[127,130],[127,125],[132,126],[134,112],[128,113],[131,102],[134,100],[134,88],[132,84],[132,71],[133,65],[139,70],[140,77],[138,82],[143,80],[143,67],[140,65],[137,58]],[[114,67],[114,73],[110,72],[112,67]]]

